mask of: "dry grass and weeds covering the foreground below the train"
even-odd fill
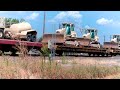
[[[0,57],[0,78],[100,79],[120,73],[119,57]]]

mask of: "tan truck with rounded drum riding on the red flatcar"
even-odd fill
[[[36,41],[37,31],[28,22],[11,23],[5,17],[0,17],[0,38],[25,41]]]

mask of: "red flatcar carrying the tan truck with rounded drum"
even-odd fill
[[[19,49],[18,46],[25,46],[28,51],[31,49],[40,50],[42,43],[40,42],[29,42],[29,41],[20,41],[20,40],[9,40],[9,39],[0,39],[0,55],[3,52],[11,51],[12,54],[15,54]]]

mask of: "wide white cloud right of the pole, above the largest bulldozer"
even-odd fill
[[[62,22],[62,21],[80,21],[82,15],[79,11],[62,11],[58,13],[53,19],[49,22]]]

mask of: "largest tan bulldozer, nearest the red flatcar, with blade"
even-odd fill
[[[75,38],[76,36],[77,34],[74,31],[74,24],[62,23],[62,27],[57,29],[55,34],[44,34],[41,42],[47,44],[49,40],[53,40],[57,45],[64,43],[67,37]]]

